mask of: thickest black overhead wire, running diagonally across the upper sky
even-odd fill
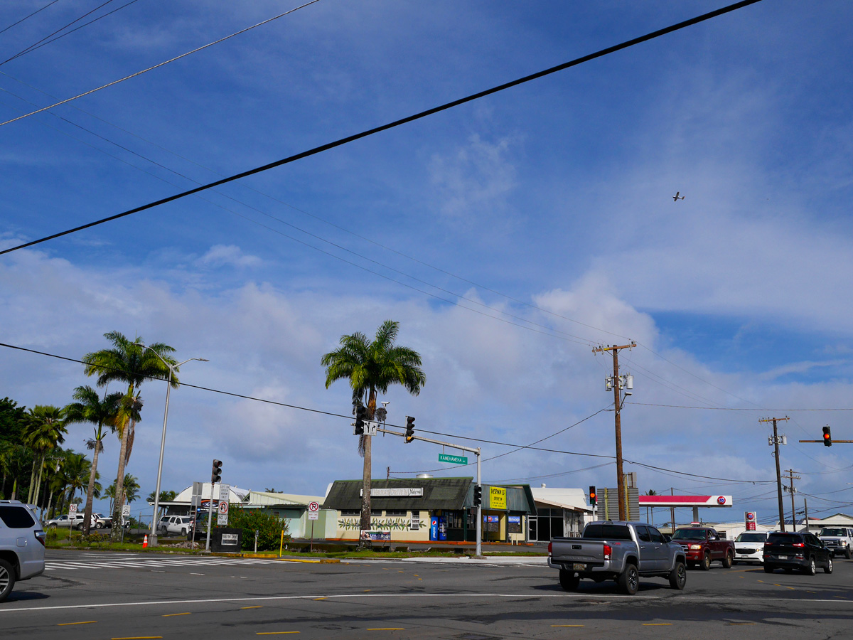
[[[305,7],[305,6],[308,6],[308,4],[312,4],[314,2],[318,2],[318,0],[312,0],[311,3],[307,3],[307,4],[302,5],[302,6]],[[663,29],[659,29],[658,31],[647,33],[647,35],[641,36],[639,38],[633,38],[631,40],[627,40],[626,42],[624,42],[622,44],[615,44],[612,47],[607,47],[606,49],[601,49],[600,51],[596,51],[595,53],[592,53],[592,54],[583,55],[582,57],[576,58],[575,60],[564,62],[563,64],[557,65],[556,67],[550,67],[548,69],[545,69],[544,71],[532,73],[531,75],[525,76],[524,78],[519,78],[519,79],[513,80],[511,82],[505,83],[505,84],[499,84],[496,87],[492,87],[491,89],[479,91],[479,93],[474,93],[470,96],[466,96],[466,97],[460,98],[458,100],[454,100],[453,102],[447,102],[447,103],[445,103],[439,107],[433,107],[433,108],[427,109],[426,111],[421,111],[420,113],[415,113],[414,115],[407,116],[406,118],[394,120],[393,122],[390,122],[386,125],[380,125],[380,126],[374,127],[373,129],[368,129],[366,131],[362,131],[360,133],[353,134],[351,136],[343,137],[343,138],[340,138],[339,140],[336,140],[332,143],[322,144],[319,147],[308,149],[307,151],[303,151],[299,154],[294,154],[294,155],[288,156],[287,158],[283,158],[281,160],[276,160],[275,162],[270,162],[270,164],[258,166],[258,167],[255,167],[255,168],[250,169],[250,170],[245,171],[245,172],[235,173],[232,176],[224,177],[220,180],[216,180],[215,182],[207,183],[207,184],[202,185],[200,187],[196,187],[195,189],[189,189],[188,191],[183,191],[183,193],[171,195],[167,198],[162,198],[158,201],[149,202],[146,205],[142,205],[142,207],[135,207],[133,209],[129,209],[128,211],[117,213],[113,216],[108,216],[107,218],[102,218],[100,220],[96,220],[95,222],[90,222],[88,224],[82,224],[78,227],[74,227],[73,229],[61,231],[60,233],[55,233],[51,236],[45,236],[44,238],[40,238],[38,240],[26,242],[26,243],[18,245],[16,247],[10,247],[8,249],[4,249],[3,251],[0,251],[0,255],[3,255],[4,253],[11,253],[13,251],[17,251],[18,249],[22,249],[24,247],[32,247],[32,245],[38,244],[40,242],[48,241],[48,240],[53,240],[54,238],[58,238],[61,236],[67,236],[68,234],[75,233],[75,232],[80,231],[80,230],[88,229],[88,228],[94,227],[98,224],[104,224],[106,222],[110,222],[110,221],[116,220],[118,218],[124,218],[125,216],[129,216],[133,213],[145,211],[147,209],[151,209],[154,207],[159,207],[160,205],[164,205],[167,202],[179,200],[180,198],[186,197],[187,195],[193,195],[193,194],[199,193],[200,191],[204,191],[206,189],[212,189],[213,187],[218,187],[220,184],[234,182],[235,180],[239,180],[243,177],[248,177],[248,176],[252,176],[256,173],[269,171],[270,169],[273,169],[277,166],[286,165],[286,164],[293,162],[295,160],[301,160],[303,158],[307,158],[310,155],[319,154],[319,153],[322,153],[323,151],[328,151],[328,149],[340,147],[344,144],[351,143],[351,142],[353,142],[355,140],[359,140],[363,137],[372,136],[375,133],[379,133],[380,131],[387,131],[388,129],[392,129],[392,128],[397,127],[397,126],[407,124],[407,123],[412,122],[414,120],[425,118],[428,115],[432,115],[433,113],[439,113],[439,112],[445,111],[447,109],[457,107],[461,104],[465,104],[466,102],[472,102],[473,100],[478,100],[479,98],[482,98],[485,96],[490,96],[493,93],[497,93],[498,91],[509,89],[510,87],[514,87],[518,84],[524,84],[525,82],[530,82],[531,80],[543,78],[543,76],[549,75],[550,73],[556,73],[558,71],[562,71],[562,70],[567,69],[569,67],[574,67],[576,65],[582,64],[583,62],[594,60],[595,58],[600,58],[603,55],[608,55],[608,54],[611,54],[615,51],[619,51],[621,49],[626,49],[628,47],[634,46],[635,44],[641,44],[643,42],[647,42],[648,40],[652,40],[653,38],[659,38],[661,36],[664,36],[667,33],[678,31],[679,29],[683,29],[685,27],[695,25],[699,22],[703,22],[705,20],[710,20],[711,18],[715,18],[718,15],[727,14],[728,12],[734,11],[735,9],[741,9],[741,8],[746,7],[748,5],[756,4],[759,2],[762,2],[762,0],[742,0],[742,2],[730,4],[730,5],[728,5],[728,7],[723,7],[722,9],[717,9],[716,11],[711,11],[710,13],[707,13],[704,15],[699,15],[698,17],[691,18],[690,20],[684,20],[684,21],[679,22],[675,25],[667,26],[667,27],[664,27]],[[301,8],[302,7],[298,7],[297,9],[301,9]],[[293,9],[292,11],[295,11],[295,10],[296,9]],[[287,12],[287,13],[291,13],[291,12]],[[282,15],[284,15],[284,14],[282,14]],[[280,16],[276,16],[276,17],[280,17]],[[261,24],[263,24],[263,23],[261,23]],[[233,35],[236,35],[236,34],[233,34]],[[212,44],[215,44],[215,43],[212,43]],[[210,46],[210,45],[206,45],[206,46]],[[189,52],[189,53],[192,53],[192,52]],[[189,55],[189,54],[184,54],[184,55]],[[165,62],[161,63],[161,65],[162,64],[165,64]],[[138,74],[136,74],[136,75],[138,75]],[[113,84],[115,84],[115,83],[113,83]],[[91,91],[89,93],[91,93]],[[85,95],[85,94],[81,94],[81,96],[82,95]],[[80,96],[77,96],[77,97],[80,97]],[[73,98],[71,98],[69,100],[73,100]],[[69,100],[62,101],[62,102],[59,102],[57,104],[69,102]],[[44,111],[45,109],[49,109],[49,108],[52,108],[55,106],[57,106],[57,105],[52,105],[51,107],[45,107],[44,109],[40,109],[39,111]],[[38,112],[28,113],[27,115],[32,115],[33,113],[38,113]],[[0,126],[7,125],[7,124],[9,124],[9,122],[13,122],[13,121],[21,119],[21,118],[26,118],[26,116],[20,116],[19,118],[15,118],[12,120],[8,120],[7,122],[0,123]]]

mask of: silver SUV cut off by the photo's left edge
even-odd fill
[[[17,580],[44,573],[44,538],[35,513],[19,500],[0,500],[0,602]]]

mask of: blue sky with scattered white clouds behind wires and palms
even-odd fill
[[[46,3],[0,8],[0,28]],[[5,60],[97,3],[0,33]],[[116,3],[116,6],[120,6]],[[298,3],[139,0],[0,65],[0,118],[113,82]],[[0,246],[245,171],[635,38],[722,3],[321,0],[165,67],[0,126]],[[102,14],[100,12],[90,17]],[[0,257],[0,341],[79,358],[119,330],[163,341],[203,387],[346,414],[320,357],[386,318],[421,352],[389,422],[529,444],[635,376],[624,456],[641,490],[734,495],[775,519],[767,416],[798,509],[850,511],[853,305],[849,3],[765,0],[652,42],[128,218]],[[52,97],[51,97],[52,96]],[[674,202],[680,191],[685,200]],[[3,390],[67,404],[82,367],[3,350]],[[154,488],[165,390],[129,472]],[[670,405],[670,406],[665,406]],[[703,407],[681,409],[682,407]],[[82,451],[75,427],[68,444]],[[164,486],[321,494],[360,477],[349,421],[183,387]],[[540,446],[613,455],[605,411]],[[484,458],[509,451],[483,445]],[[118,444],[100,468],[114,474]],[[432,445],[374,442],[374,476],[443,468]],[[605,461],[606,462],[606,461]],[[614,486],[601,458],[519,451],[485,481]],[[584,470],[586,469],[586,470]],[[709,476],[695,478],[679,472]],[[560,475],[555,475],[560,474]],[[547,478],[545,476],[548,476]],[[722,480],[711,480],[722,478]],[[833,493],[836,492],[836,493]],[[786,497],[786,509],[789,504]],[[744,509],[740,509],[740,507]],[[714,518],[716,514],[704,515]],[[688,517],[688,514],[684,514]]]

